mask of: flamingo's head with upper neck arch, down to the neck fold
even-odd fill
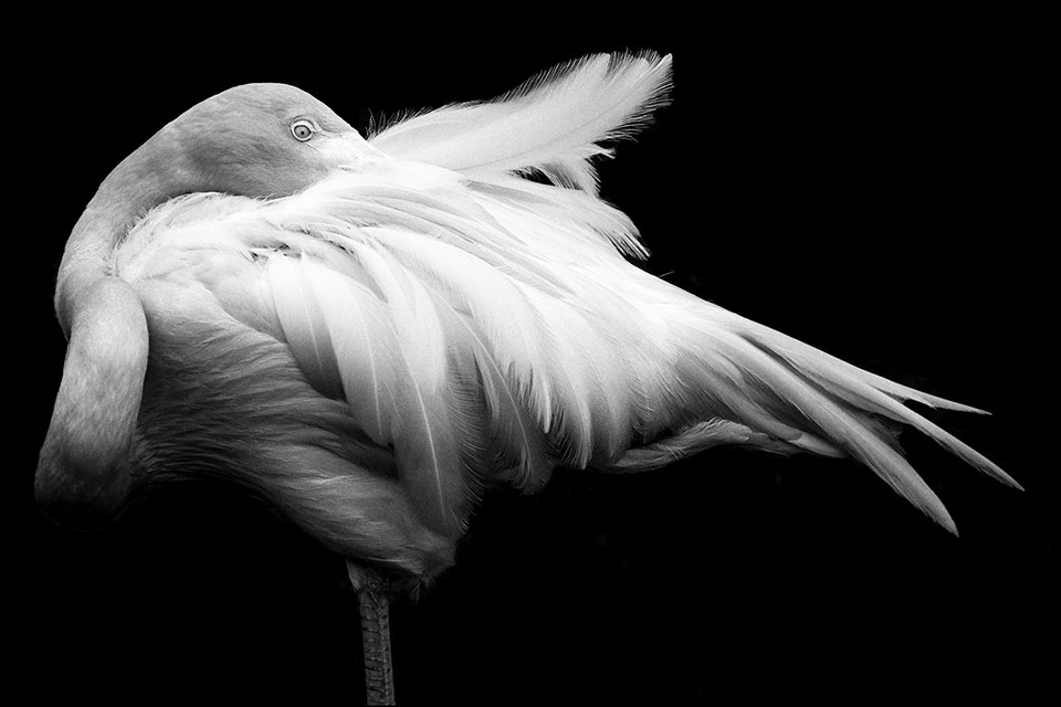
[[[207,98],[162,127],[99,184],[60,266],[61,324],[69,335],[78,279],[95,279],[109,267],[132,225],[164,201],[195,192],[285,197],[376,154],[328,106],[294,86],[245,84]]]

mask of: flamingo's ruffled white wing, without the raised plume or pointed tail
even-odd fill
[[[314,388],[395,450],[429,525],[458,532],[492,475],[534,489],[558,463],[618,458],[644,426],[645,387],[624,377],[651,355],[611,356],[655,334],[598,284],[629,267],[612,242],[633,239],[581,191],[396,162],[275,202],[172,201],[130,234],[119,272],[179,270],[285,341]]]

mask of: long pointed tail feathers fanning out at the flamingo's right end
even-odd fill
[[[896,444],[894,429],[905,425],[985,474],[1020,488],[994,462],[903,402],[979,412],[975,408],[875,376],[714,305],[677,317],[671,328],[683,341],[680,360],[672,365],[685,388],[701,391],[701,414],[707,421],[630,450],[610,471],[656,468],[718,444],[847,455],[957,534],[939,497]]]

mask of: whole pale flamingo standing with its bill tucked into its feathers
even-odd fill
[[[908,428],[1020,488],[905,403],[981,411],[638,267],[595,165],[666,104],[671,65],[585,56],[366,136],[282,84],[167,124],[103,180],[59,267],[42,508],[98,526],[189,476],[265,498],[348,561],[387,704],[388,592],[452,567],[496,486],[715,446],[809,453],[957,532],[899,449]]]

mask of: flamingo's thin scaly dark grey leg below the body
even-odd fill
[[[347,561],[346,571],[357,592],[365,648],[365,690],[368,705],[395,704],[390,663],[390,598],[387,580],[376,570]]]

